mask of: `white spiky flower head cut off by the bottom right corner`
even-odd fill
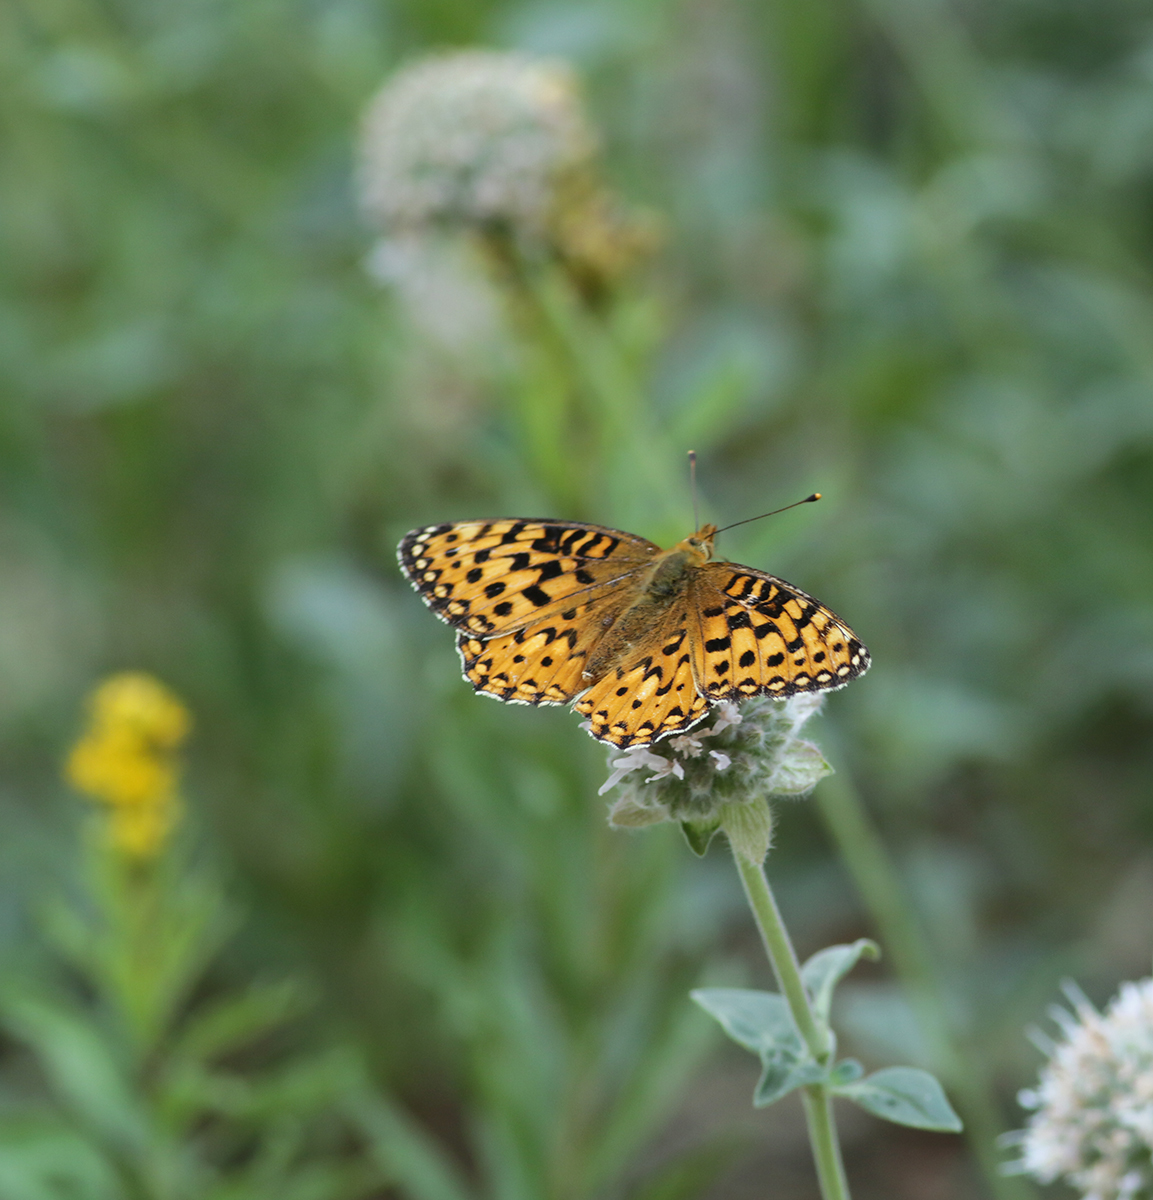
[[[1021,1157],[1007,1170],[1064,1180],[1083,1200],[1153,1200],[1153,978],[1123,984],[1104,1013],[1065,994],[1073,1013],[1053,1009],[1063,1037],[1019,1097],[1034,1111],[1009,1135]]]

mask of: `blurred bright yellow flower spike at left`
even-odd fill
[[[89,710],[89,727],[68,756],[67,780],[108,806],[109,840],[118,851],[155,858],[180,816],[173,756],[191,727],[188,710],[139,672],[106,679]]]

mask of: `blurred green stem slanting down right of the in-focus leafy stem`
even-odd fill
[[[877,926],[879,940],[893,955],[917,1024],[929,1044],[933,1066],[956,1099],[965,1122],[965,1135],[990,1193],[997,1200],[1032,1200],[1037,1195],[1032,1186],[1020,1177],[1001,1174],[996,1146],[1001,1133],[997,1102],[977,1057],[962,1051],[949,1027],[924,931],[913,916],[913,905],[860,794],[848,775],[837,772],[817,785],[816,798],[821,816]]]

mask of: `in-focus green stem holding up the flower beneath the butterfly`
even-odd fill
[[[792,1013],[793,1024],[813,1058],[821,1063],[828,1062],[833,1050],[829,1032],[817,1021],[809,1007],[809,997],[800,978],[800,964],[797,961],[788,930],[781,920],[781,912],[764,869],[757,863],[751,863],[735,848],[733,858],[749,899],[749,907],[752,908],[757,929],[761,930],[761,940],[764,942],[769,962],[773,965],[773,974]],[[804,1088],[801,1098],[809,1126],[809,1142],[812,1146],[817,1178],[821,1182],[821,1195],[823,1200],[849,1200],[848,1180],[845,1176],[841,1145],[833,1118],[833,1097],[821,1084],[813,1084]]]

